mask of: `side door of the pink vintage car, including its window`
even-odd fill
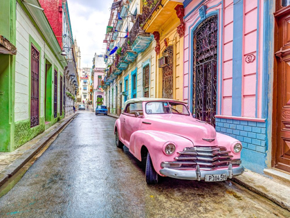
[[[138,112],[140,116],[136,117],[135,112]],[[143,116],[142,103],[128,104],[123,113],[123,134],[125,145],[129,147],[131,135],[134,131],[140,129],[141,116]]]

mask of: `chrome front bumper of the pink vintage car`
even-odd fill
[[[188,179],[188,180],[204,180],[206,175],[217,175],[217,174],[226,174],[228,179],[232,179],[233,176],[239,176],[244,172],[244,167],[239,166],[233,168],[232,165],[228,165],[228,170],[209,170],[209,171],[201,171],[199,170],[199,166],[197,165],[196,170],[174,170],[170,168],[163,168],[160,170],[160,173],[164,176],[169,176],[175,179]]]

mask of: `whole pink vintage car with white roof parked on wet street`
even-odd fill
[[[242,143],[192,117],[185,102],[133,98],[115,123],[116,145],[146,166],[148,184],[158,175],[176,179],[224,181],[244,172]]]

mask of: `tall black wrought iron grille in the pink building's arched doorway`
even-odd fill
[[[217,15],[194,31],[193,113],[215,127],[217,109]]]

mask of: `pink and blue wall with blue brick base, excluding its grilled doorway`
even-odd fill
[[[203,4],[204,3],[204,4]],[[192,109],[192,35],[206,17],[218,16],[217,131],[241,140],[243,164],[262,172],[266,167],[266,117],[262,102],[264,72],[263,1],[191,1],[185,7],[183,100]],[[246,62],[249,57],[255,57]]]

